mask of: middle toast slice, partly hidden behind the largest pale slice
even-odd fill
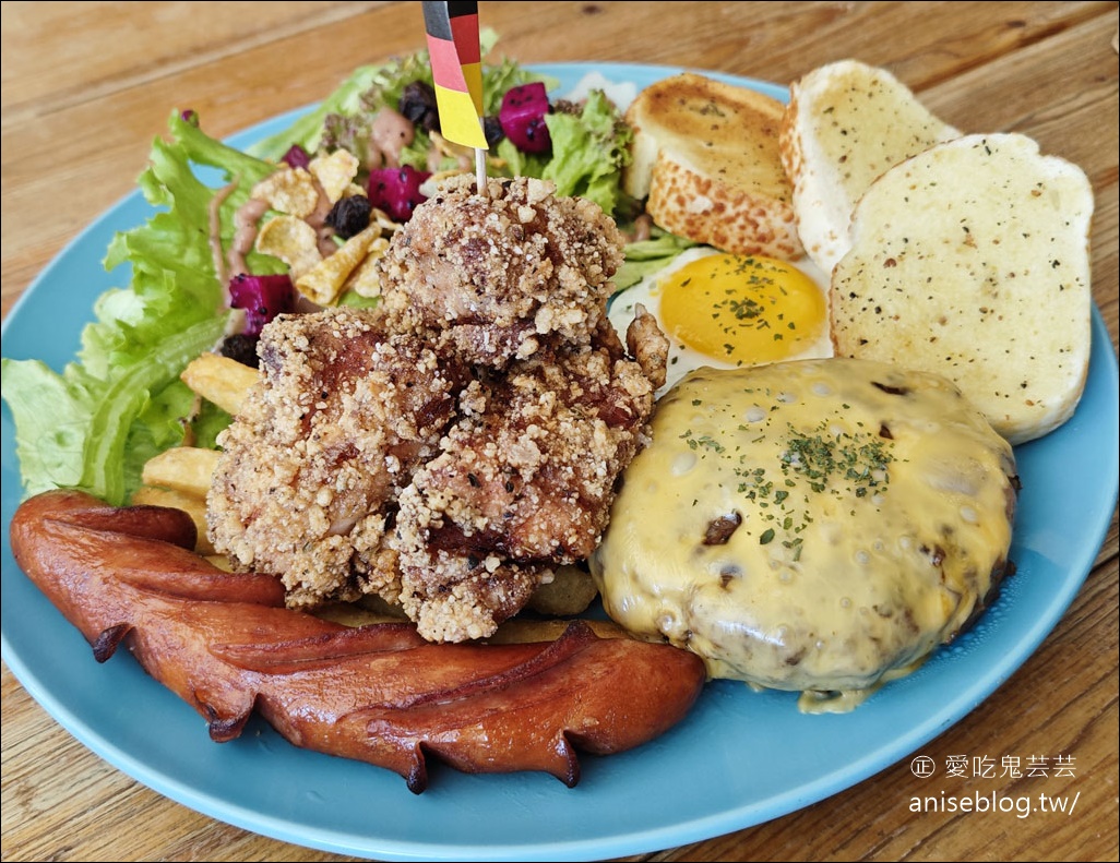
[[[813,263],[829,273],[848,251],[851,212],[876,177],[959,135],[883,68],[846,59],[794,82],[781,153]]]

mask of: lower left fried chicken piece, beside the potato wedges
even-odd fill
[[[438,452],[464,368],[343,308],[281,316],[260,355],[262,379],[218,439],[215,547],[239,569],[280,575],[289,606],[391,595],[386,518],[414,466]]]

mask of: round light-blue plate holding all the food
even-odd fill
[[[554,75],[561,93],[591,71],[636,87],[679,72],[610,64],[536,68]],[[713,76],[787,95],[773,84]],[[280,131],[296,113],[232,142],[245,147]],[[129,196],[52,262],[4,321],[3,355],[37,357],[60,369],[78,347],[94,299],[124,283],[124,274],[102,270],[109,240],[149,213],[139,193]],[[104,666],[93,660],[77,630],[16,566],[7,529],[3,659],[64,728],[140,782],[220,820],[324,851],[382,860],[592,860],[749,827],[849,788],[920,749],[991,695],[1065,612],[1117,501],[1117,358],[1095,309],[1092,337],[1076,414],[1016,450],[1023,496],[1011,557],[1018,573],[973,630],[847,715],[802,715],[794,694],[717,682],[683,722],[647,745],[609,758],[584,756],[573,789],[543,775],[465,776],[437,768],[430,789],[414,796],[395,773],[296,749],[261,721],[236,741],[213,743],[203,720],[129,656]],[[7,406],[2,423],[8,524],[20,493]]]

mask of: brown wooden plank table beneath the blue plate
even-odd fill
[[[965,131],[1017,131],[1096,193],[1093,292],[1117,346],[1117,4],[482,3],[526,62],[670,64],[788,82],[853,56]],[[353,67],[423,44],[416,2],[4,2],[3,313],[133,188],[170,106],[225,135],[316,101]],[[916,794],[1017,796],[1009,779],[917,785],[906,760],[771,823],[633,860],[1116,860],[1117,519],[1083,589],[999,691],[924,747],[1068,752],[1046,794],[1074,816],[912,813]],[[84,657],[83,657],[84,658]],[[342,860],[198,815],[63,731],[3,668],[3,860]],[[671,781],[671,777],[666,777]],[[641,791],[636,790],[640,794]]]

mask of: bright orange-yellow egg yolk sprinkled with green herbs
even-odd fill
[[[760,255],[701,257],[661,283],[671,337],[734,365],[794,356],[821,335],[824,296],[797,268]]]

